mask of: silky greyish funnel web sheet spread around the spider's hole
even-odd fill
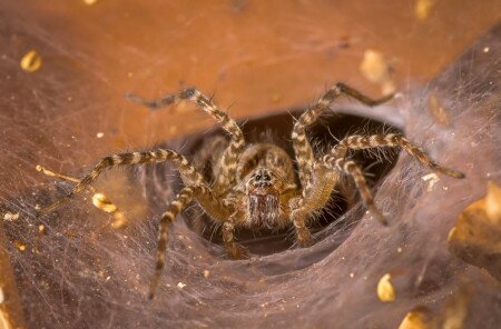
[[[23,33],[43,32],[28,32],[23,22],[11,20],[10,26],[0,22],[2,38],[10,36],[12,27]],[[425,306],[441,311],[451,295],[473,286],[468,327],[497,328],[501,321],[499,289],[479,269],[451,256],[445,240],[461,210],[482,197],[487,180],[501,179],[500,38],[498,28],[426,87],[406,92],[397,110],[382,113],[383,118],[399,116],[410,140],[443,164],[465,171],[466,180],[440,177],[428,192],[421,178],[429,172],[402,154],[375,199],[391,218],[390,227],[381,227],[366,215],[350,236],[332,226],[318,233],[322,239],[311,248],[247,261],[228,260],[217,245],[177,220],[154,301],[146,300],[155,262],[154,219],[177,188],[175,176],[167,168],[159,186],[145,171],[118,170],[96,185],[127,209],[132,221],[122,230],[110,229],[110,219],[90,205],[90,195],[56,215],[36,219],[37,205],[62,196],[71,185],[55,185],[37,173],[35,164],[75,172],[110,153],[99,144],[92,153],[71,148],[80,132],[106,130],[102,124],[110,118],[89,119],[87,100],[70,100],[71,94],[61,90],[90,86],[81,92],[98,94],[95,100],[102,110],[107,97],[86,83],[96,79],[90,73],[71,80],[55,70],[47,83],[35,88],[33,80],[17,73],[18,60],[6,56],[2,72],[11,78],[6,78],[9,82],[2,89],[10,97],[0,100],[0,114],[1,122],[13,124],[2,127],[0,140],[7,156],[0,160],[0,209],[2,215],[19,213],[19,218],[4,220],[1,242],[7,246],[2,248],[13,268],[28,326],[395,328],[409,310]],[[60,66],[63,72],[69,64]],[[436,124],[424,110],[432,93],[450,116],[448,128]],[[67,102],[80,112],[57,110]],[[58,126],[59,116],[65,117],[65,126]],[[53,134],[47,133],[51,129]],[[346,221],[362,212],[356,206],[345,215]],[[386,272],[396,278],[399,296],[392,305],[380,302],[375,295],[377,280]]]

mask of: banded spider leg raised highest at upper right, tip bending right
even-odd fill
[[[328,106],[342,94],[356,99],[370,107],[381,104],[393,98],[393,94],[390,94],[381,99],[372,99],[342,82],[337,82],[333,88],[327,90],[312,108],[307,109],[296,121],[292,132],[293,147],[303,188],[307,187],[310,183],[315,160],[312,146],[306,138],[306,128],[313,124],[318,117],[328,109]]]

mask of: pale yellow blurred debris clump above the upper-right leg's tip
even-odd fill
[[[383,94],[390,94],[395,91],[395,86],[390,74],[391,67],[382,52],[366,49],[358,69],[365,79],[381,86]]]

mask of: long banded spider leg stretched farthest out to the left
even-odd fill
[[[62,198],[59,201],[41,209],[38,215],[45,216],[69,202],[75,195],[87,188],[106,169],[119,166],[165,161],[173,161],[177,166],[185,185],[202,185],[204,182],[202,175],[195,169],[195,167],[193,167],[184,156],[173,150],[158,149],[150,152],[118,153],[102,158],[96,167],[73,187],[71,192],[66,198]]]

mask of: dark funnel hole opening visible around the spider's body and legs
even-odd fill
[[[294,124],[293,118],[297,118],[301,113],[302,111],[297,110],[265,118],[252,119],[246,122],[242,122],[240,127],[244,130],[248,143],[275,143],[286,150],[294,159],[291,132]],[[402,131],[395,127],[389,126],[387,123],[373,119],[351,114],[333,113],[328,117],[321,118],[321,120],[318,120],[318,122],[310,129],[308,137],[312,144],[314,144],[317,154],[323,154],[330,149],[330,147],[334,146],[337,140],[346,136],[354,133],[374,134],[390,132]],[[198,168],[203,169],[203,172],[208,181],[213,179],[212,166],[214,164],[210,163],[208,158],[213,152],[212,148],[218,147],[217,142],[214,143],[214,140],[217,138],[219,138],[219,140],[226,138],[223,130],[217,129],[208,133],[193,134],[185,138],[184,141],[180,142],[183,146],[181,152],[188,158],[194,159],[195,163],[198,163]],[[207,157],[204,154],[207,154]],[[371,187],[375,186],[393,168],[396,161],[397,151],[386,150],[384,154],[384,159],[381,161],[381,157],[379,159],[373,153],[367,151],[352,152],[352,158],[363,169],[367,183]],[[353,185],[348,178],[345,178],[345,180]],[[178,187],[180,188],[180,183]],[[310,223],[310,228],[313,233],[322,231],[325,227],[335,222],[336,219],[346,212],[350,205],[358,202],[358,195],[356,190],[354,190],[354,186],[352,190],[352,200],[346,200],[346,198],[338,191],[334,191],[332,193],[331,202],[325,207],[320,217]],[[186,210],[185,218],[189,228],[197,235],[213,243],[223,245],[219,227],[215,225],[214,221],[212,221],[198,206],[190,207]],[[357,219],[354,220],[356,221]],[[351,222],[350,227],[354,227],[353,223],[354,222]],[[344,228],[346,228],[346,222],[340,225],[344,225]],[[247,228],[239,228],[235,232],[235,238],[240,245],[255,255],[279,252],[292,248],[295,243],[294,230],[292,227],[282,231],[255,231]]]

